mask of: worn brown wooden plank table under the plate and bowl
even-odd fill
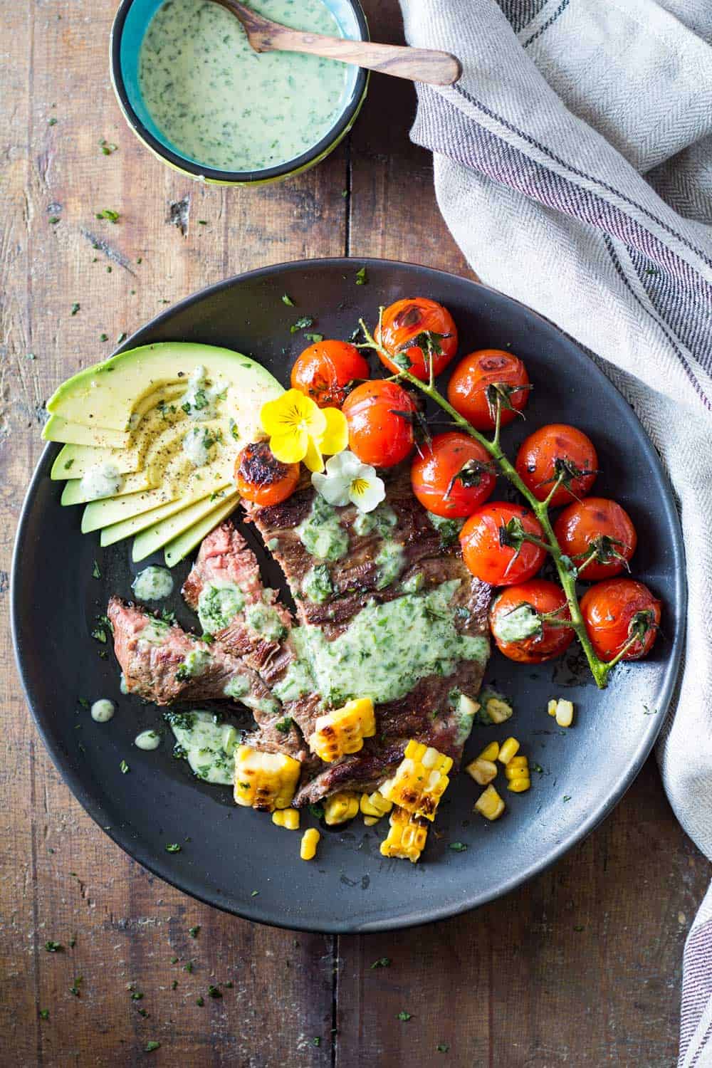
[[[400,40],[396,0],[364,6],[374,37]],[[219,279],[302,256],[470,273],[438,213],[430,158],[408,140],[411,87],[375,77],[350,139],[297,179],[201,188],[155,161],[120,115],[107,73],[113,9],[1,11],[5,614],[44,402],[124,331]],[[101,139],[117,151],[105,155]],[[180,202],[186,233],[172,221]],[[120,222],[98,221],[104,208]],[[7,631],[0,656],[3,1065],[138,1065],[148,1041],[161,1043],[149,1063],[189,1068],[675,1064],[682,946],[709,865],[652,760],[603,827],[504,900],[395,934],[295,934],[199,905],[124,855],[39,742]],[[47,953],[48,940],[64,951]],[[193,958],[192,974],[172,957]],[[383,957],[390,967],[374,968]]]

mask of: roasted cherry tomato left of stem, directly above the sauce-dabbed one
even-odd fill
[[[469,570],[491,586],[513,586],[533,579],[547,553],[541,546],[522,540],[522,533],[543,538],[541,524],[528,508],[506,501],[480,505],[460,531]]]

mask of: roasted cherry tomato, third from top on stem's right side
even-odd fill
[[[545,501],[560,478],[549,502],[557,508],[589,492],[596,480],[598,456],[594,442],[582,430],[566,423],[550,423],[529,434],[517,454],[516,467],[538,501]]]

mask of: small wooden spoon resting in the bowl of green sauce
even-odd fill
[[[462,64],[449,52],[400,45],[377,45],[370,41],[348,41],[323,33],[291,30],[252,11],[240,0],[215,0],[235,15],[244,27],[248,41],[256,52],[310,52],[328,60],[354,63],[357,66],[391,74],[430,85],[452,85],[462,74]]]

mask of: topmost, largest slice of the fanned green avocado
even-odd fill
[[[227,383],[224,411],[232,414],[243,440],[253,440],[262,405],[283,388],[259,363],[212,345],[160,342],[122,352],[63,382],[47,402],[47,410],[68,423],[91,427],[96,422],[121,434],[147,395],[184,382],[187,387],[197,366],[212,381]]]

